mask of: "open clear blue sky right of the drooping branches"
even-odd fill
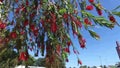
[[[119,0],[100,0],[102,5],[109,10],[114,9],[117,5],[120,4]],[[119,18],[117,18],[118,23]],[[74,45],[79,50],[80,55],[79,58],[82,60],[83,65],[88,66],[100,66],[102,65],[114,65],[116,62],[119,61],[118,54],[116,52],[116,41],[120,41],[120,27],[115,26],[115,28],[108,29],[108,28],[95,28],[96,31],[101,39],[95,40],[90,37],[89,33],[87,33],[84,29],[82,30],[82,34],[86,38],[87,49],[81,49],[77,39],[74,39]],[[71,51],[72,52],[72,51]],[[78,68],[78,63],[76,56],[71,53],[69,56],[69,62],[66,63],[68,67],[76,67]]]

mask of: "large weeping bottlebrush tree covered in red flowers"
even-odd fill
[[[93,8],[98,15],[90,12]],[[105,9],[99,0],[0,0],[0,10],[1,42],[16,48],[22,61],[28,60],[28,49],[33,50],[35,56],[39,52],[44,56],[46,51],[46,65],[51,68],[67,60],[70,47],[79,54],[70,34],[85,48],[81,29],[85,28],[93,38],[99,39],[91,29],[96,25],[112,29],[118,24],[114,15],[120,16],[120,12]],[[108,18],[103,16],[103,11]],[[82,64],[79,58],[78,63]]]

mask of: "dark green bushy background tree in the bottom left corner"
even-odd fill
[[[18,64],[17,56],[18,54],[15,51],[5,48],[0,52],[0,67],[10,68],[16,66]]]

